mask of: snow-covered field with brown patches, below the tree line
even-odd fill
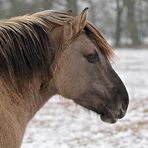
[[[130,106],[116,124],[59,96],[28,125],[21,148],[147,148],[148,50],[115,50],[113,67],[124,81]]]

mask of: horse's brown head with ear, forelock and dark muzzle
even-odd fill
[[[57,93],[114,123],[127,110],[127,90],[113,70],[113,51],[106,39],[87,21],[87,9],[64,24],[62,49],[56,58]]]

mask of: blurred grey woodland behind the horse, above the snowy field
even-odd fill
[[[101,28],[117,47],[148,46],[148,0],[0,0],[0,18],[45,9],[73,10],[89,7],[89,20]]]

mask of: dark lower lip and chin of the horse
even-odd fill
[[[113,112],[108,108],[105,108],[105,110],[100,114],[100,118],[102,121],[107,123],[116,123],[118,120]]]

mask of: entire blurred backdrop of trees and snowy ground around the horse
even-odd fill
[[[54,96],[28,125],[21,148],[147,148],[148,145],[148,0],[0,0],[0,18],[45,9],[89,7],[116,54],[112,66],[130,96],[126,116],[116,124]]]

